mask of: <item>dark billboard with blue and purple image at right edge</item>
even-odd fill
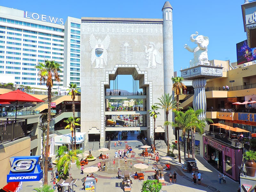
[[[256,48],[250,48],[247,40],[236,44],[237,65],[256,60]]]

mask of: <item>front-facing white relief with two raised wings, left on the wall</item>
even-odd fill
[[[91,62],[92,65],[95,61],[95,68],[104,68],[104,65],[107,65],[108,62],[108,47],[110,44],[110,38],[109,35],[105,37],[105,39],[102,41],[101,39],[96,39],[93,34],[90,36],[90,46],[92,49],[92,57]]]

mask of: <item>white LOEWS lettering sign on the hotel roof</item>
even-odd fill
[[[59,24],[59,25],[64,24],[64,20],[61,18],[52,17],[52,16],[48,16],[48,15],[42,15],[42,14],[28,12],[28,11],[24,11],[24,17],[29,18],[29,19],[39,20],[39,21],[45,21],[48,23],[55,23],[55,24]]]

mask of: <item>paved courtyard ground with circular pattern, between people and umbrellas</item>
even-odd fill
[[[111,141],[111,145],[114,146],[115,141]],[[118,148],[123,148],[125,146],[132,146],[132,153],[129,153],[129,158],[127,165],[124,164],[124,159],[114,158],[115,157],[115,151],[118,150]],[[109,158],[105,160],[106,162],[106,171],[97,171],[94,173],[94,176],[98,179],[98,183],[96,184],[96,191],[97,192],[109,192],[109,190],[114,190],[115,192],[118,191],[124,191],[122,186],[122,179],[117,179],[117,170],[120,168],[122,172],[129,171],[129,172],[140,172],[140,169],[136,169],[132,166],[130,167],[130,162],[132,164],[136,163],[144,163],[144,158],[140,157],[140,153],[142,149],[140,146],[142,146],[142,142],[138,140],[124,140],[122,147],[117,147],[115,149],[111,149],[109,151],[106,151],[106,153],[109,154]],[[166,149],[159,149],[157,150],[159,152],[160,161],[159,164],[166,164],[167,161],[162,160],[161,156],[166,156]],[[88,153],[88,151],[86,151]],[[178,153],[178,151],[174,151],[175,153]],[[100,155],[100,151],[92,151],[92,155],[95,157],[98,157]],[[53,157],[53,159],[55,156]],[[115,165],[113,165],[113,160],[115,159]],[[196,156],[197,159],[197,165],[199,168],[199,171],[202,173],[202,184],[193,184],[191,180],[191,173],[183,172],[181,169],[181,165],[178,163],[178,159],[169,161],[171,163],[171,172],[174,171],[177,173],[177,183],[170,183],[169,180],[169,173],[170,171],[165,171],[164,173],[164,183],[162,187],[163,192],[167,191],[174,191],[174,192],[197,192],[197,191],[237,191],[238,189],[238,182],[235,182],[229,178],[227,178],[227,184],[219,184],[218,174],[219,172],[215,170],[210,164],[208,164],[207,161],[205,161],[202,157]],[[88,165],[85,165],[85,167],[89,166],[97,166],[99,162],[102,162],[101,159],[97,158],[93,162],[89,162]],[[145,164],[148,164],[148,158],[145,158]],[[149,166],[147,169],[141,170],[143,174],[145,175],[144,180],[152,179],[154,178],[154,169],[153,165],[156,165],[156,161],[149,160]],[[71,165],[71,174],[74,179],[78,179],[76,182],[76,186],[74,186],[74,191],[83,191],[82,189],[82,181],[85,179],[85,176],[87,173],[84,173],[84,175],[80,174],[81,170],[76,168],[76,165]],[[51,172],[48,172],[48,182],[51,181]],[[141,185],[143,183],[143,180],[134,180],[132,179],[132,189],[133,192],[140,192]],[[50,183],[52,185],[52,183]],[[28,192],[33,191],[34,188],[40,187],[42,185],[42,182],[23,182],[23,188],[21,192]],[[57,191],[57,190],[56,190]]]

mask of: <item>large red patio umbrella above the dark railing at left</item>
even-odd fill
[[[29,95],[28,93],[22,92],[19,89],[0,95],[0,102],[11,102],[11,101],[16,101],[15,119],[17,117],[18,101],[44,102],[43,100],[37,99],[36,97]]]

